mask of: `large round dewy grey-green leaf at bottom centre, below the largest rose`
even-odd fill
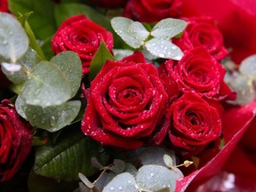
[[[176,188],[174,172],[161,165],[144,165],[140,167],[136,182],[140,189],[146,189],[146,191],[169,188],[173,192]]]

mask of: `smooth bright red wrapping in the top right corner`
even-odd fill
[[[217,20],[224,44],[237,64],[256,52],[255,0],[183,0],[182,17],[210,16]]]

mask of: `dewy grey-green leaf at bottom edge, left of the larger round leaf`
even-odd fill
[[[138,192],[135,185],[134,177],[129,172],[123,172],[116,175],[116,177],[111,180],[105,188],[103,188],[102,192]]]

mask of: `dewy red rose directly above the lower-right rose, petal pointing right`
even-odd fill
[[[226,70],[204,47],[184,52],[179,61],[167,60],[165,68],[181,92],[196,92],[215,100],[236,99],[223,81]]]

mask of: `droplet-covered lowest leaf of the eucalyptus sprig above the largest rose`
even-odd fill
[[[180,48],[172,44],[170,40],[153,38],[150,39],[145,46],[148,52],[160,58],[180,60],[183,56],[183,52]]]

